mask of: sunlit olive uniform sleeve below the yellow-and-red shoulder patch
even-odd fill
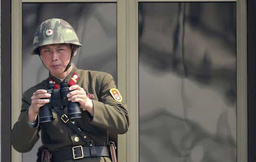
[[[129,127],[127,105],[114,100],[109,92],[116,88],[113,77],[106,74],[102,80],[99,101],[93,100],[93,119],[91,124],[99,126],[115,134],[124,134]]]

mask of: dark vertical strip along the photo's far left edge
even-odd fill
[[[11,4],[1,0],[1,159],[11,161]]]

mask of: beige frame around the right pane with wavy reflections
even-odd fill
[[[139,162],[139,108],[138,108],[138,3],[139,2],[236,2],[236,54],[237,54],[237,162],[247,162],[247,6],[245,0],[128,0],[127,17],[129,17],[129,36],[127,53],[129,53],[127,81],[127,104],[131,107],[132,123],[129,128],[133,136],[128,146],[134,148],[127,153],[127,162]],[[132,101],[132,102],[131,102]],[[134,156],[130,156],[130,155]]]

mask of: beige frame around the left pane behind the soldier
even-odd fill
[[[22,55],[20,50],[22,49],[22,3],[44,3],[44,2],[114,2],[117,3],[117,82],[120,92],[122,92],[123,100],[126,100],[126,72],[125,72],[125,1],[123,0],[12,0],[11,3],[11,32],[12,32],[12,52],[11,52],[11,128],[17,121],[20,114],[21,97],[22,97]],[[128,110],[129,111],[129,110]],[[127,149],[127,136],[118,135],[118,160],[122,161],[126,159]],[[12,162],[22,162],[22,154],[11,149]],[[35,155],[36,156],[36,155]]]

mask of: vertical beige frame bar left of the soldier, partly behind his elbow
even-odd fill
[[[22,97],[22,2],[12,0],[12,122],[18,119]],[[16,40],[16,41],[14,41]],[[12,162],[22,162],[22,154],[12,147]]]

